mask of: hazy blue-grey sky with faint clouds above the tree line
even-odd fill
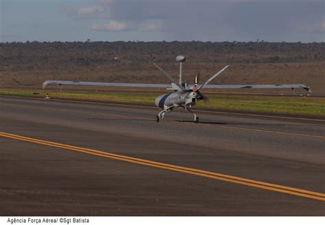
[[[0,0],[0,42],[325,42],[325,0]]]

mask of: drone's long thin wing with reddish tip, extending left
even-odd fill
[[[109,82],[84,82],[70,80],[46,80],[43,83],[43,89],[49,84],[59,85],[86,85],[86,86],[124,86],[139,88],[171,88],[171,84],[132,84],[132,83],[109,83]]]

